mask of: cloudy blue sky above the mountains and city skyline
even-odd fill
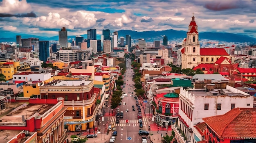
[[[256,38],[256,0],[0,0],[3,31],[52,37],[87,29],[229,32]],[[8,37],[8,35],[6,35]]]

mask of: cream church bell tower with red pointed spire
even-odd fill
[[[183,41],[184,53],[182,56],[182,69],[196,67],[200,63],[200,43],[198,37],[198,26],[195,23],[195,17],[189,24],[186,39]]]

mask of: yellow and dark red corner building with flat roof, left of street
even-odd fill
[[[64,98],[67,108],[64,114],[69,131],[80,132],[92,129],[95,125],[97,93],[94,93],[93,80],[53,80],[40,86],[42,99]]]

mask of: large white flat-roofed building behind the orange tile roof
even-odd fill
[[[181,87],[179,118],[172,126],[177,143],[202,141],[201,134],[194,126],[204,122],[202,120],[204,117],[223,115],[233,108],[253,107],[252,95],[228,85],[226,89],[206,91],[207,89],[186,90]]]

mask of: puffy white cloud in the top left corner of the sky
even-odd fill
[[[24,13],[31,11],[30,4],[26,0],[2,0],[0,13]]]

